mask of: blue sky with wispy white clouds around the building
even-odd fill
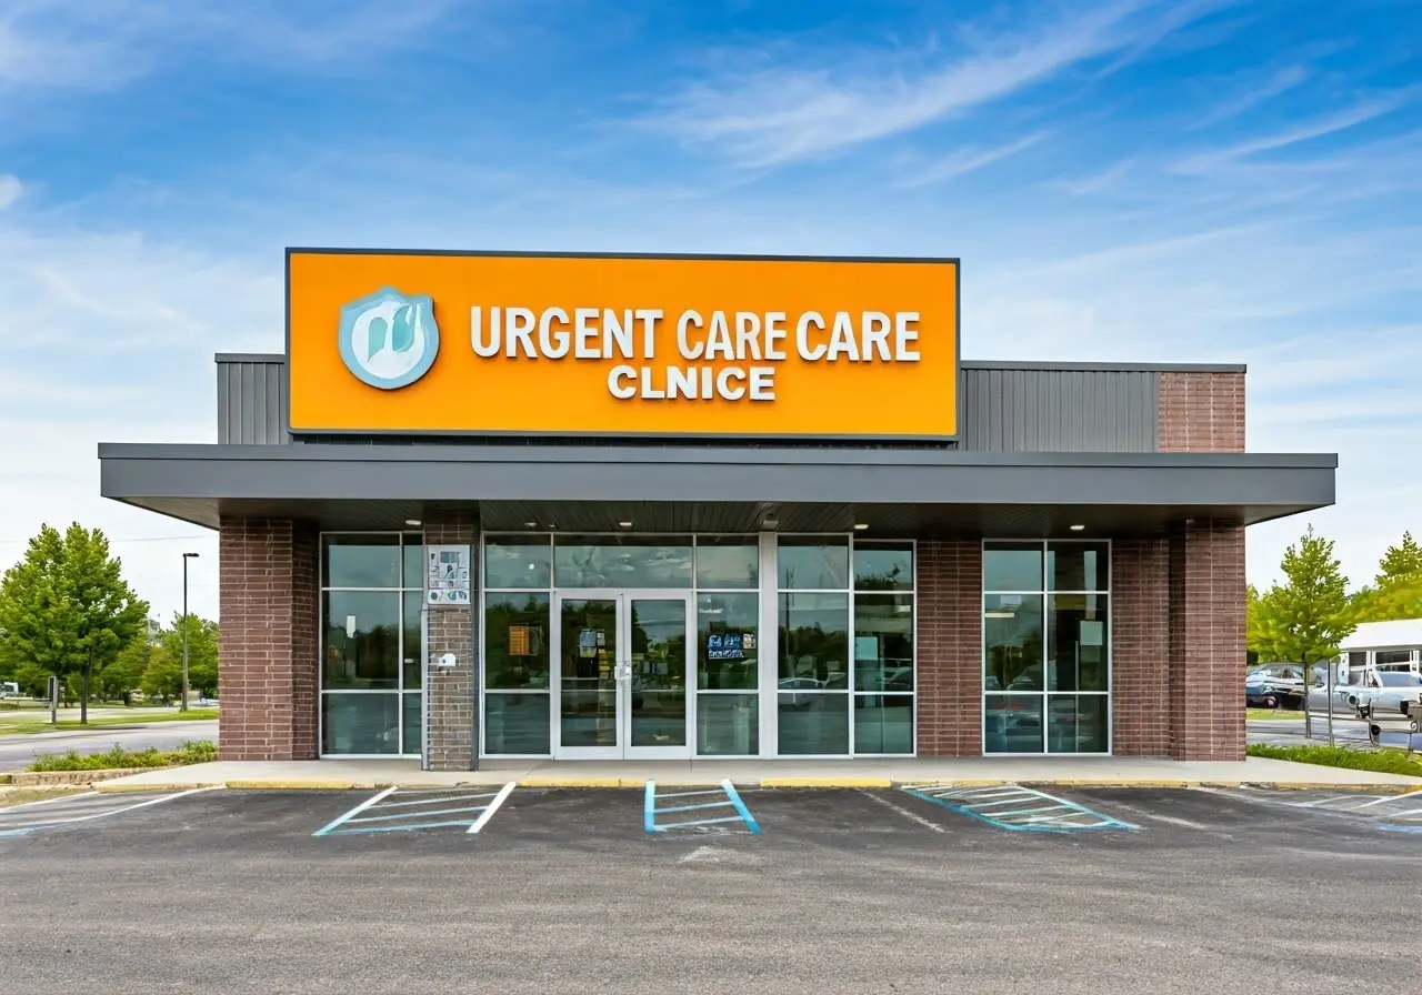
[[[1422,532],[1416,0],[0,0],[0,563],[102,527],[216,617],[216,540],[98,498],[213,442],[283,249],[957,256],[974,360],[1247,362],[1367,583]]]

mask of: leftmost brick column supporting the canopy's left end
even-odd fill
[[[317,756],[316,529],[292,519],[219,523],[223,760]]]

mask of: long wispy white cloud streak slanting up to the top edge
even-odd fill
[[[1197,6],[1194,16],[1210,7]],[[1116,53],[1139,57],[1185,23],[1180,9],[1125,0],[1074,13],[1031,36],[977,31],[973,50],[933,68],[912,71],[902,51],[823,53],[818,64],[737,71],[681,90],[643,124],[690,146],[714,146],[744,166],[772,166],[822,156],[910,132],[1001,101],[1064,70]],[[856,75],[840,65],[869,65]]]

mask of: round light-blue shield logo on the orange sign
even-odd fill
[[[429,372],[439,353],[439,327],[429,294],[392,287],[341,307],[341,360],[357,380],[383,391],[408,387]]]

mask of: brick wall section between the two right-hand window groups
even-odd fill
[[[920,539],[919,756],[983,752],[983,543]]]

